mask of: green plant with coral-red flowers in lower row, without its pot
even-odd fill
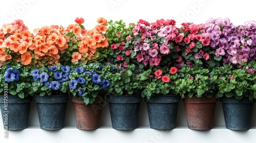
[[[157,70],[148,69],[145,71],[147,75],[146,80],[143,82],[144,86],[141,93],[142,97],[147,97],[150,99],[153,96],[162,95],[162,94],[173,94],[171,89],[174,86],[174,81],[179,78],[177,73],[177,67],[171,67],[170,69],[166,66]]]

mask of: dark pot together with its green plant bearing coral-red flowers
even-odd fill
[[[141,96],[145,97],[150,127],[153,129],[175,128],[180,96],[174,94],[171,87],[179,78],[177,70],[177,67],[155,67],[154,72],[148,69],[140,76],[145,78]]]

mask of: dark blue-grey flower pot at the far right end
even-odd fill
[[[253,110],[253,101],[248,98],[237,100],[236,98],[220,98],[224,113],[224,120],[227,129],[249,130]]]

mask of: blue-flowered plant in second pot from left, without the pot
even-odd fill
[[[71,69],[68,65],[41,66],[31,71],[33,77],[32,89],[39,96],[51,96],[67,92]]]

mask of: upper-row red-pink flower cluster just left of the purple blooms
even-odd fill
[[[219,66],[221,57],[215,56],[215,50],[210,44],[210,34],[204,24],[182,23],[181,32],[184,34],[181,48],[185,62],[200,63],[205,67]]]

